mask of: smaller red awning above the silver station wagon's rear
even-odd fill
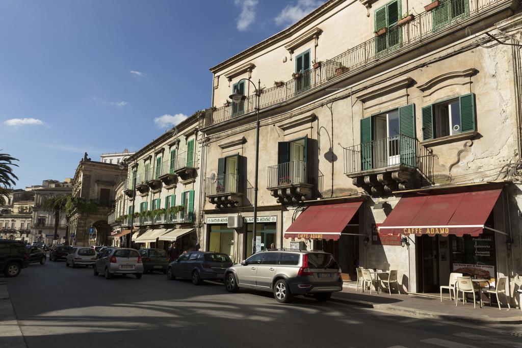
[[[361,204],[362,201],[310,206],[288,227],[284,237],[337,241]]]

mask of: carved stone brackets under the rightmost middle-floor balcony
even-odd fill
[[[399,167],[381,173],[352,176],[352,183],[372,196],[382,196],[390,195],[393,191],[414,188],[420,184],[420,178],[415,170]]]

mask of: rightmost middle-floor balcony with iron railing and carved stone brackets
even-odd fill
[[[432,184],[433,154],[405,135],[373,140],[344,149],[345,174],[372,195]]]

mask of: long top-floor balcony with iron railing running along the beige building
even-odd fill
[[[514,0],[470,0],[468,3],[462,0],[455,3],[460,7],[455,5],[451,11],[448,10],[442,15],[435,9],[416,16],[408,16],[411,18],[410,21],[399,21],[400,23],[405,22],[404,25],[398,24],[387,28],[382,35],[326,59],[315,69],[304,71],[280,85],[263,89],[259,100],[260,109],[289,103],[315,91],[326,91],[326,85],[333,85],[389,59],[403,56],[406,52],[435,41],[452,31],[464,30],[469,27],[470,23],[512,7],[517,2]],[[433,20],[434,13],[436,14],[435,21]],[[253,113],[255,107],[255,94],[248,95],[239,106],[227,103],[221,107],[211,107],[205,113],[204,126],[216,125],[241,115]]]

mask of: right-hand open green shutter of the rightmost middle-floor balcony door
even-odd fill
[[[414,167],[416,164],[415,104],[399,107],[400,163]]]

